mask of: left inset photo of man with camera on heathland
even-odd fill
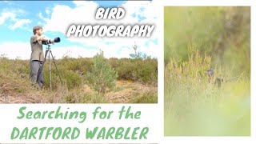
[[[154,2],[0,2],[0,103],[158,103]]]

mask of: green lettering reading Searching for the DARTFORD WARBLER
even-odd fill
[[[92,113],[89,114],[91,118],[90,121],[96,119],[110,120],[111,116],[114,114],[113,110],[105,111],[101,110],[101,106],[94,109]],[[30,120],[30,122],[36,122],[38,119],[50,121],[53,119],[71,121],[72,119],[78,119],[79,125],[77,126],[61,126],[56,124],[56,126],[14,126],[11,134],[11,140],[60,140],[60,139],[147,139],[147,134],[150,129],[147,126],[109,126],[105,127],[98,124],[99,126],[85,126],[82,125],[83,122],[88,122],[88,115],[86,111],[72,111],[70,108],[62,109],[58,106],[57,110],[28,110],[26,106],[22,106],[18,110],[18,119]],[[140,119],[141,112],[131,112],[131,106],[127,109],[122,106],[121,110],[118,110],[118,119]],[[46,122],[43,121],[43,122]]]

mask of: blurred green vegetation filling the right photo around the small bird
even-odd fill
[[[165,135],[250,135],[250,8],[166,7],[164,77]]]

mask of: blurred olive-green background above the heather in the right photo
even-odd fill
[[[164,19],[165,64],[193,42],[212,65],[250,71],[250,7],[165,7]]]

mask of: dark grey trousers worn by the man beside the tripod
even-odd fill
[[[30,61],[30,80],[31,86],[35,87],[38,83],[38,89],[42,89],[43,76],[42,76],[43,62]]]

